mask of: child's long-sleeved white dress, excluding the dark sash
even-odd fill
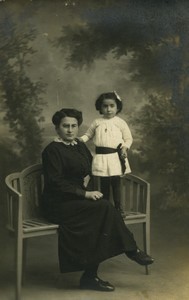
[[[127,123],[115,116],[111,119],[95,119],[87,132],[81,137],[84,142],[93,138],[96,147],[109,147],[117,149],[121,143],[130,148],[133,138]],[[126,173],[130,173],[128,159],[125,159]],[[118,153],[95,154],[92,162],[92,174],[95,176],[123,175]]]

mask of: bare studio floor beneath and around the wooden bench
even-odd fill
[[[152,211],[150,275],[125,255],[107,260],[99,276],[115,285],[111,293],[80,290],[80,272],[59,273],[56,236],[31,239],[22,300],[188,300],[188,228],[187,217]],[[140,245],[141,228],[131,230]],[[14,244],[3,226],[0,234],[0,299],[14,300]]]

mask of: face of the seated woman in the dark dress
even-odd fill
[[[76,118],[64,117],[56,129],[58,135],[66,142],[72,142],[78,135],[78,121]]]

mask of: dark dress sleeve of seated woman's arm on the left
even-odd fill
[[[86,191],[66,178],[64,164],[56,149],[44,150],[42,153],[45,185],[51,191],[61,195],[65,193],[85,197]]]

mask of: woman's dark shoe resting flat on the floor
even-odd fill
[[[98,276],[93,278],[81,277],[80,279],[80,289],[82,290],[96,290],[102,292],[113,292],[115,287],[108,281],[103,281]]]

